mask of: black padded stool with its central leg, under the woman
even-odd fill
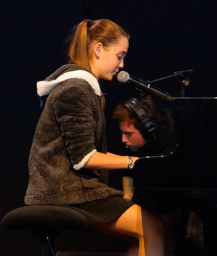
[[[8,212],[1,221],[5,229],[31,229],[41,236],[41,256],[54,256],[54,237],[61,229],[86,229],[87,218],[78,210],[56,205],[31,205]]]

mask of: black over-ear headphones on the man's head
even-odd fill
[[[142,121],[143,125],[139,131],[145,139],[150,139],[151,142],[155,141],[158,135],[158,126],[148,117],[141,103],[136,98],[130,98],[124,102],[124,106],[131,112],[136,114]]]

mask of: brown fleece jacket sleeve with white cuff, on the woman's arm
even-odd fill
[[[87,82],[74,79],[74,84],[61,87],[54,111],[73,168],[79,170],[96,152],[96,96]]]

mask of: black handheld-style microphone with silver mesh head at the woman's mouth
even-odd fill
[[[135,88],[139,90],[147,91],[148,93],[154,94],[160,98],[163,98],[164,100],[167,100],[170,102],[173,100],[173,97],[169,95],[167,92],[164,92],[163,90],[160,90],[155,86],[150,85],[148,81],[144,81],[142,79],[137,79],[136,77],[130,76],[125,71],[121,71],[120,73],[118,73],[117,80],[118,82],[122,82],[124,84],[127,83],[127,84],[134,85]]]

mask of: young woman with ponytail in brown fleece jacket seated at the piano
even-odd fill
[[[109,154],[99,79],[124,66],[129,36],[116,23],[83,20],[70,38],[70,64],[37,82],[43,111],[29,155],[27,205],[65,205],[93,226],[131,242],[126,255],[164,255],[164,226],[107,185],[107,171],[137,158]]]

